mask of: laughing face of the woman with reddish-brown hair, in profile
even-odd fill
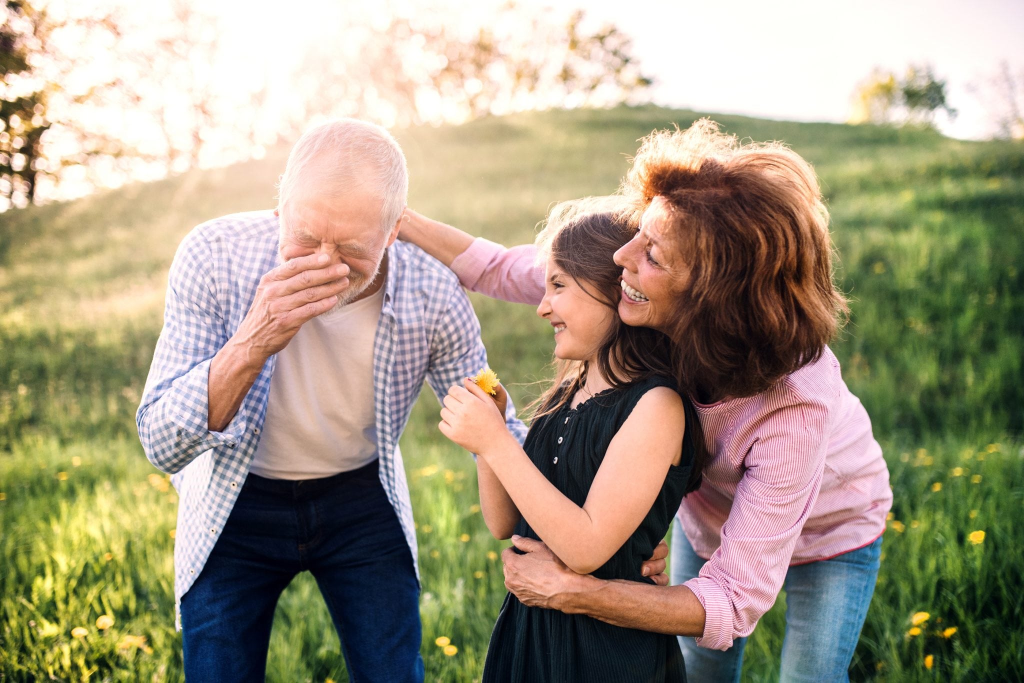
[[[660,197],[644,211],[640,230],[615,252],[623,267],[618,315],[626,325],[667,332],[674,304],[688,276],[669,234],[669,206]]]

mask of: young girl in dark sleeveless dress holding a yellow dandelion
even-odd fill
[[[631,237],[612,213],[586,205],[562,205],[542,233],[537,312],[554,328],[557,374],[523,446],[470,380],[452,388],[439,426],[478,454],[480,507],[496,538],[539,539],[578,573],[652,583],[640,564],[698,485],[702,439],[670,379],[677,354],[668,338],[615,312],[622,270],[612,254]],[[510,593],[483,680],[685,681],[686,671],[673,636],[527,607]]]

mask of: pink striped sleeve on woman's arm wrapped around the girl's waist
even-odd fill
[[[684,584],[707,614],[700,647],[731,647],[774,604],[821,486],[826,421],[825,407],[802,403],[775,411],[759,426],[721,545]]]

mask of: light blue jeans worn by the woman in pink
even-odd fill
[[[879,575],[882,539],[828,560],[790,567],[785,574],[785,640],[781,683],[849,681],[847,671]],[[672,531],[672,584],[696,577],[705,560],[677,519]],[[746,638],[727,650],[697,647],[679,638],[686,675],[699,683],[738,683]]]

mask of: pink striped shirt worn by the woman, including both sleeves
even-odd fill
[[[478,238],[452,269],[474,292],[538,304],[535,254]],[[709,561],[685,586],[707,612],[697,644],[726,649],[771,608],[790,565],[878,539],[892,490],[867,413],[828,348],[764,393],[694,407],[712,461],[679,518]]]

